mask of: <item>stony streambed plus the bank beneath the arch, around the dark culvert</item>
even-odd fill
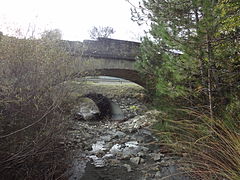
[[[67,136],[60,143],[68,152],[69,180],[190,179],[179,170],[179,157],[170,155],[160,145],[161,137],[153,134],[151,126],[163,114],[147,110],[148,99],[142,87],[130,83],[83,85],[75,81],[68,85],[72,116]],[[109,98],[120,107],[112,111],[113,115],[122,112],[125,118],[93,118],[99,109],[89,100],[78,98],[89,93]],[[83,118],[76,118],[79,112]]]

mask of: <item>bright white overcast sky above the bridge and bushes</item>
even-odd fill
[[[131,0],[138,4],[139,0]],[[63,39],[89,39],[93,26],[111,26],[112,38],[137,40],[144,27],[131,21],[131,5],[126,0],[0,0],[0,31],[12,34],[29,25],[37,32],[60,29]]]

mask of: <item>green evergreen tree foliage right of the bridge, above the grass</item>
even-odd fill
[[[149,91],[194,97],[210,115],[216,104],[238,96],[239,7],[235,0],[143,0],[132,13],[137,21],[151,22],[138,61],[151,79]]]

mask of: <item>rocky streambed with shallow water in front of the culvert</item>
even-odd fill
[[[147,111],[124,122],[71,119],[65,146],[70,180],[187,180],[178,157],[165,154],[149,127],[160,112]]]

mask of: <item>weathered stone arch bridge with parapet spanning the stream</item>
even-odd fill
[[[135,68],[140,43],[110,38],[63,41],[75,60],[75,72],[81,76],[112,76],[145,86]]]

